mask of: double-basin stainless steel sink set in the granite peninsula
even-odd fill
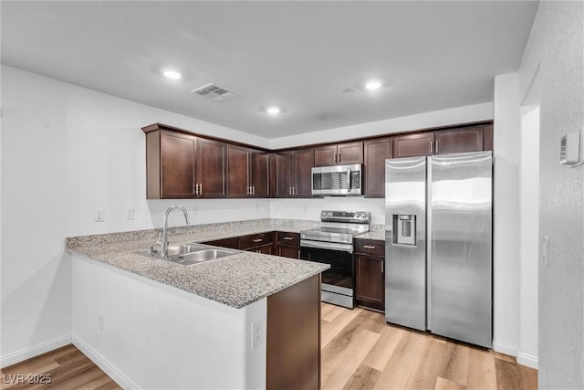
[[[183,266],[193,266],[217,258],[226,258],[240,253],[236,249],[217,248],[204,244],[169,245],[167,257],[162,258],[157,251],[139,251],[138,254],[148,258],[161,258]]]

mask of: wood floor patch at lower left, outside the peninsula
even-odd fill
[[[1,373],[0,388],[3,390],[121,388],[86,355],[70,344],[5,367]],[[47,383],[49,380],[50,383]]]

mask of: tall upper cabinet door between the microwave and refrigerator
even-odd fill
[[[391,138],[367,141],[364,148],[365,196],[385,197],[385,160],[393,157],[393,141]]]

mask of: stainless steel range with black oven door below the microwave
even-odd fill
[[[355,307],[353,237],[370,230],[369,211],[320,213],[321,227],[300,232],[300,258],[330,265],[322,273],[321,300]]]

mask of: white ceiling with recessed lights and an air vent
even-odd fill
[[[491,101],[494,76],[518,69],[537,5],[2,1],[2,62],[278,138]],[[360,90],[369,78],[386,86]],[[209,82],[240,96],[191,93]],[[267,104],[286,111],[269,116]]]

